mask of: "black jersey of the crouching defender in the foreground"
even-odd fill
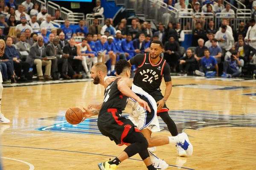
[[[120,79],[120,78],[119,78]],[[101,113],[108,112],[108,109],[115,108],[117,111],[122,112],[125,110],[128,97],[123,95],[117,88],[117,81],[119,79],[116,79],[115,81],[111,82],[108,87],[105,89],[104,92],[104,100],[102,104],[102,108],[99,111],[99,115]]]

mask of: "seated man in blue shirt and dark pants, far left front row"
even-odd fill
[[[28,76],[30,65],[28,62],[21,61],[19,53],[15,47],[12,46],[12,37],[6,38],[4,59],[10,59],[13,61],[15,73],[19,81],[27,81],[25,76]],[[23,70],[23,72],[21,70]]]

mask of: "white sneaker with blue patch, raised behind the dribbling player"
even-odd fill
[[[189,137],[184,132],[178,134],[178,142],[176,144],[176,147],[179,156],[191,156],[193,153],[193,146],[189,142]],[[183,150],[185,150],[186,155],[184,154]]]

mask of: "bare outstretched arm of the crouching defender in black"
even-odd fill
[[[131,91],[131,81],[128,78],[121,78],[117,82],[118,90],[124,94],[125,96],[131,97],[132,99],[136,100],[140,106],[151,112],[148,103],[144,100],[140,99],[133,91]]]

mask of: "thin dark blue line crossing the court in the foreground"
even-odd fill
[[[72,150],[59,150],[59,149],[48,149],[48,148],[40,148],[40,147],[22,147],[22,146],[9,146],[9,145],[1,145],[2,147],[20,147],[20,148],[27,148],[27,149],[40,149],[40,150],[56,150],[56,151],[62,151],[62,152],[73,152],[73,153],[85,153],[85,154],[90,154],[90,155],[99,155],[99,156],[109,156],[109,157],[116,157],[116,156],[112,156],[112,155],[104,155],[104,154],[99,154],[99,153],[88,153],[88,152],[79,152],[79,151],[72,151]],[[135,161],[142,161],[140,159],[133,159],[133,158],[128,158],[131,160],[135,160]],[[169,166],[172,167],[177,167],[175,165],[171,165],[169,164]],[[194,169],[190,169],[187,167],[180,167],[186,170],[194,170]]]

